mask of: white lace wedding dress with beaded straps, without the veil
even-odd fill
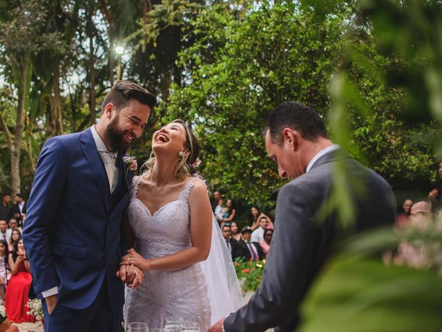
[[[128,220],[137,241],[135,250],[144,258],[179,252],[191,246],[189,205],[187,202],[195,178],[184,187],[180,198],[164,205],[153,215],[137,199],[140,177],[133,180]],[[145,322],[149,328],[162,328],[164,318],[182,317],[200,324],[200,331],[211,326],[211,305],[201,263],[179,270],[148,271],[139,288],[126,287],[124,321]]]

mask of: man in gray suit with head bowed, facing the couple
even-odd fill
[[[271,327],[277,332],[294,331],[300,323],[300,303],[334,241],[348,232],[394,223],[396,201],[388,183],[333,145],[323,120],[309,107],[295,102],[276,107],[267,122],[265,144],[278,163],[279,175],[292,181],[278,194],[262,283],[247,305],[209,332],[259,332]],[[340,228],[336,211],[318,213],[329,200],[338,163],[345,166],[345,185],[353,199],[352,230]]]

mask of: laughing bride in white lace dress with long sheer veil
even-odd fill
[[[182,120],[153,134],[155,156],[133,179],[122,265],[144,271],[139,288],[126,288],[124,321],[162,328],[169,316],[200,324],[242,306],[238,279],[215,223],[204,181],[195,176],[200,144]]]

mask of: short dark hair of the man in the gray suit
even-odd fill
[[[273,143],[282,145],[282,129],[291,128],[299,131],[306,140],[328,138],[323,119],[310,107],[298,102],[282,102],[267,118],[264,133],[270,133]]]

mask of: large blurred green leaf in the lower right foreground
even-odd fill
[[[300,331],[439,331],[441,292],[432,271],[342,255],[309,292]]]

